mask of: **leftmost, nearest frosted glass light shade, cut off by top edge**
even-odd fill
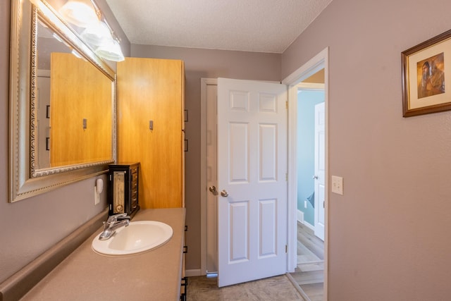
[[[69,0],[61,6],[59,13],[66,21],[78,27],[87,27],[99,22],[99,17],[90,1]]]

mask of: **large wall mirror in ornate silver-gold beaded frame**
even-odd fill
[[[47,1],[11,2],[9,202],[116,161],[116,75]]]

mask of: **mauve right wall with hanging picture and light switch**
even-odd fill
[[[329,47],[328,300],[447,300],[451,111],[402,118],[401,52],[451,29],[451,1],[333,0],[282,56]],[[448,70],[449,72],[450,70]]]

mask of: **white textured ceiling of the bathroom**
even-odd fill
[[[332,0],[106,0],[132,44],[282,53]]]

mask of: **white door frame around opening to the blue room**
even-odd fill
[[[326,47],[319,54],[295,70],[282,83],[288,85],[288,271],[294,271],[297,262],[297,84],[324,68],[324,106],[326,108],[326,199],[324,233],[324,297],[328,300],[328,52]]]

